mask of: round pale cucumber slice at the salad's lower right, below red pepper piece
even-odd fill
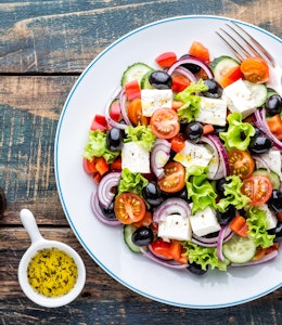
[[[256,245],[251,237],[243,238],[233,235],[223,244],[222,253],[231,263],[243,264],[253,259],[256,253]]]

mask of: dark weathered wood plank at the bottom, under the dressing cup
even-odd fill
[[[132,292],[107,275],[86,253],[69,229],[48,227],[40,229],[40,232],[43,237],[62,240],[80,253],[87,268],[86,286],[78,299],[56,310],[44,309],[29,301],[20,288],[16,271],[30,240],[23,227],[2,227],[1,324],[281,324],[281,290],[243,306],[213,312],[165,306]]]

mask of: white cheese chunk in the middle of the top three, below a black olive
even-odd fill
[[[201,98],[201,108],[196,121],[211,123],[214,126],[226,126],[227,103],[218,99]]]

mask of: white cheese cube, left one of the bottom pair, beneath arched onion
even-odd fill
[[[170,239],[191,240],[192,230],[189,216],[169,214],[161,218],[157,235],[166,242]]]

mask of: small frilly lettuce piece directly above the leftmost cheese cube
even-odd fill
[[[152,133],[150,126],[138,126],[138,127],[127,127],[125,129],[127,138],[125,142],[134,141],[139,143],[146,151],[151,151],[154,145],[156,136]]]

